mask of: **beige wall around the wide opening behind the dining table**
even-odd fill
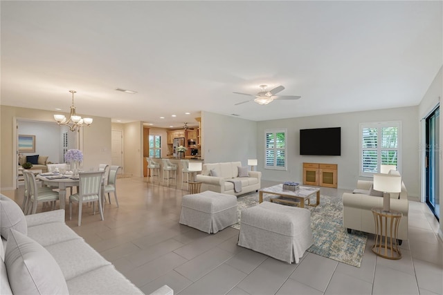
[[[17,119],[54,122],[53,114],[53,111],[0,106],[0,189],[15,188],[17,132],[14,127]],[[100,163],[111,162],[111,119],[92,118],[93,124],[80,133],[85,171],[94,169]]]

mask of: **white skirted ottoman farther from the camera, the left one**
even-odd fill
[[[237,197],[215,191],[183,196],[180,223],[215,234],[237,223]]]

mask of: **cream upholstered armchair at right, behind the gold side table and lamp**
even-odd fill
[[[359,180],[358,193],[343,193],[343,227],[351,233],[352,229],[375,234],[372,208],[383,208],[383,197],[370,196],[372,181]],[[356,192],[355,191],[355,192]],[[408,191],[401,183],[401,193],[391,193],[390,209],[403,213],[399,224],[398,239],[408,239]]]

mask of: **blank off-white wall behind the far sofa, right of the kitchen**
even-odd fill
[[[237,117],[201,112],[204,162],[241,161],[257,157],[257,123]]]

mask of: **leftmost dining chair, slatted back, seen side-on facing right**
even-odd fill
[[[55,203],[57,200],[60,200],[59,193],[48,187],[38,187],[32,172],[25,170],[23,175],[25,178],[25,197],[26,194],[28,195],[24,204],[24,213],[26,215],[35,214],[37,212],[37,204],[41,202],[51,202],[53,209],[55,209]]]

